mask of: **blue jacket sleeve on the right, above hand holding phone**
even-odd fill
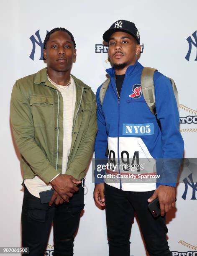
[[[175,187],[184,151],[184,141],[179,131],[177,101],[171,81],[159,72],[154,75],[154,86],[163,146],[163,166],[159,183]]]

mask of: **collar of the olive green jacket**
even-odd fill
[[[84,87],[86,89],[90,89],[91,87],[88,86],[87,84],[84,84],[84,82],[82,82],[81,80],[79,80],[77,77],[75,77],[74,75],[72,75],[72,78],[74,79],[74,82],[76,85],[80,86],[80,87]],[[38,71],[36,73],[36,76],[34,78],[34,84],[41,84],[41,83],[45,83],[46,85],[48,85],[50,82],[47,79],[47,69],[46,67],[41,69],[40,71]],[[51,84],[51,83],[50,83]]]

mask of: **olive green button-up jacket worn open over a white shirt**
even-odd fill
[[[92,157],[97,133],[96,100],[89,86],[72,77],[76,103],[66,174],[81,180]],[[10,119],[24,179],[38,175],[49,183],[62,168],[63,98],[47,79],[46,68],[15,82]]]

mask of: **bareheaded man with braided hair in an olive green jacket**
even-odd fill
[[[54,256],[73,255],[84,207],[83,177],[97,132],[95,95],[71,74],[75,41],[65,28],[45,38],[47,68],[15,82],[10,117],[24,172],[22,244],[44,255],[54,223]],[[41,203],[40,192],[54,189]]]

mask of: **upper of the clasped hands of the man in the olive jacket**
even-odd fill
[[[75,184],[78,185],[81,181],[74,179],[71,175],[60,174],[50,183],[64,201],[67,201],[67,197],[72,197],[73,193],[79,190]]]

